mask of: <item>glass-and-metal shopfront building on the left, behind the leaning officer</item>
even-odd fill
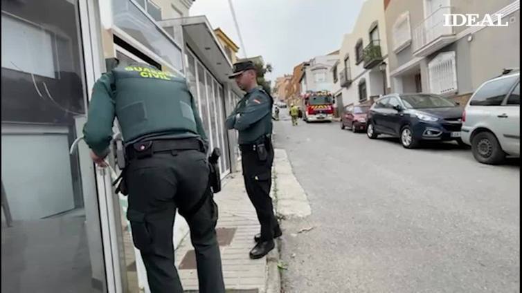
[[[186,77],[210,146],[222,149],[222,176],[235,169],[236,136],[223,122],[242,92],[206,17],[188,16],[191,5],[2,1],[3,292],[150,292],[127,198],[111,186],[117,174],[96,168],[84,142],[69,150],[91,88],[115,58]],[[174,246],[187,232],[177,216]]]

